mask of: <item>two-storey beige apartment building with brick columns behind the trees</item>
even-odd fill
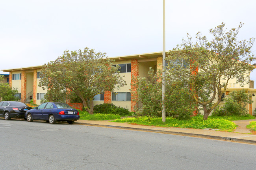
[[[167,51],[169,52],[169,51]],[[137,105],[137,87],[132,80],[137,77],[148,77],[149,67],[152,67],[155,71],[162,67],[162,52],[152,52],[145,54],[135,54],[128,56],[111,57],[115,60],[114,64],[121,66],[120,74],[124,76],[124,80],[127,85],[120,89],[115,89],[113,92],[105,91],[104,94],[98,94],[95,96],[94,104],[101,103],[113,103],[114,105],[128,108],[130,111],[134,111],[135,105]],[[38,87],[39,74],[43,65],[22,67],[17,69],[6,69],[4,72],[9,72],[9,84],[13,88],[17,88],[19,91],[19,97],[23,102],[29,102],[33,99],[33,102],[40,104],[41,99],[47,90],[43,90]],[[250,74],[248,73],[248,76]],[[245,75],[246,76],[246,75]],[[250,83],[241,87],[240,84],[236,84],[236,80],[230,80],[229,87],[226,90],[226,94],[234,90],[242,90],[252,96],[254,103],[247,105],[249,113],[256,108],[256,89],[253,86],[254,81],[250,80]],[[131,93],[130,90],[133,92]],[[221,103],[222,105],[223,103]]]

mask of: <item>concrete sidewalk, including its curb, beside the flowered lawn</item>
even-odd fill
[[[250,121],[256,121],[256,119],[242,120],[243,124],[249,125]],[[238,121],[239,123],[239,121]],[[238,124],[236,121],[236,124]],[[243,134],[237,132],[222,132],[215,129],[192,129],[192,128],[175,128],[175,127],[154,127],[144,125],[131,125],[128,123],[117,123],[110,121],[90,121],[90,120],[77,120],[75,124],[107,127],[107,128],[119,128],[126,130],[138,130],[144,132],[155,132],[163,134],[173,134],[191,137],[202,137],[207,139],[218,139],[224,141],[233,141],[240,143],[248,143],[256,145],[256,135]]]

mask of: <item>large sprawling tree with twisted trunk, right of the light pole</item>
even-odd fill
[[[204,110],[204,119],[220,103],[230,79],[244,85],[249,81],[246,73],[254,69],[249,63],[256,59],[251,51],[255,38],[238,41],[242,26],[240,23],[237,29],[227,31],[222,23],[210,29],[211,41],[198,32],[194,43],[187,34],[188,39],[167,57],[167,78],[188,81],[190,93]]]

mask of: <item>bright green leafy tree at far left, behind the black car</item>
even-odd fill
[[[14,95],[18,93],[17,89],[11,89],[9,83],[3,83],[4,76],[0,75],[0,101],[18,101],[19,98]]]

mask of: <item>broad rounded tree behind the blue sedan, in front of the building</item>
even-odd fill
[[[114,67],[113,62],[106,58],[106,53],[96,53],[87,47],[83,51],[64,51],[55,61],[44,65],[39,86],[71,90],[81,98],[85,110],[93,114],[94,96],[125,85],[119,67]]]

